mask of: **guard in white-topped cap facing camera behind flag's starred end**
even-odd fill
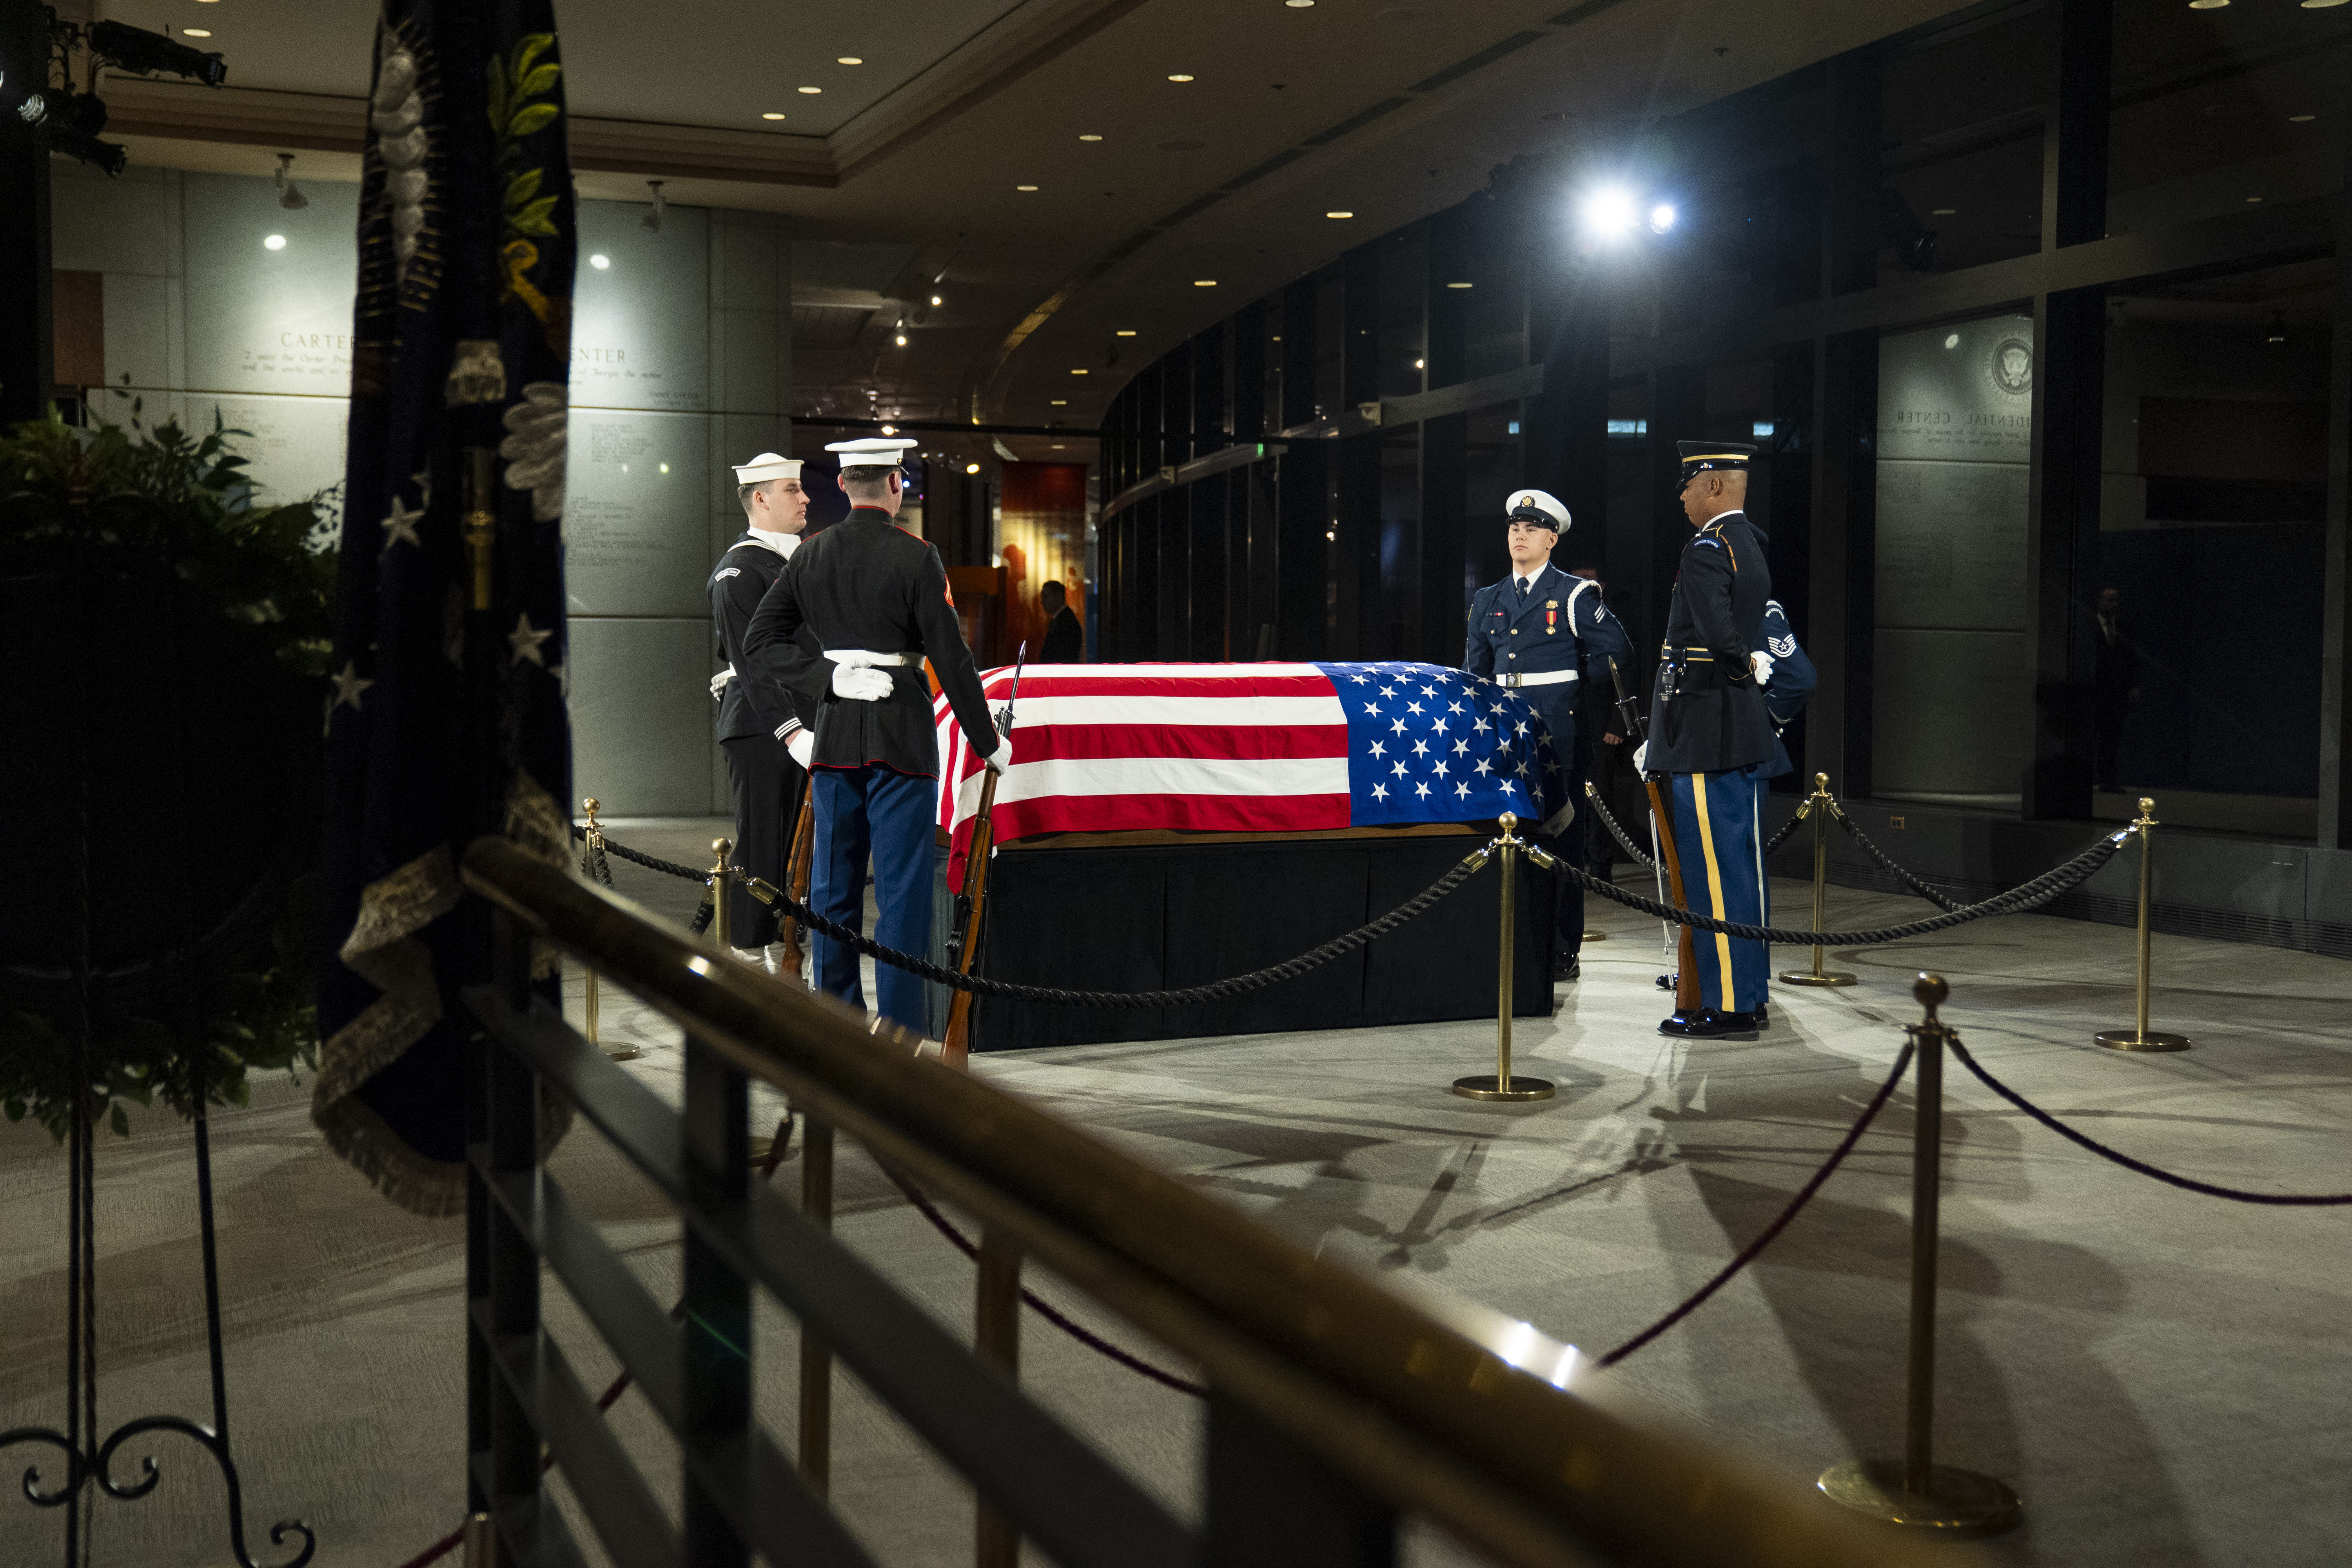
[[[1583,755],[1576,750],[1576,698],[1588,654],[1630,654],[1625,628],[1602,604],[1602,585],[1569,576],[1552,564],[1552,548],[1569,529],[1569,508],[1541,489],[1510,494],[1510,576],[1479,588],[1470,599],[1470,642],[1463,670],[1526,696],[1552,736],[1552,759],[1566,769],[1569,804],[1583,795]],[[1602,665],[1606,668],[1606,665]],[[1571,811],[1555,837],[1569,865],[1585,863],[1590,823]],[[1585,940],[1585,891],[1559,877],[1552,922],[1552,976],[1576,978],[1576,952]]]

